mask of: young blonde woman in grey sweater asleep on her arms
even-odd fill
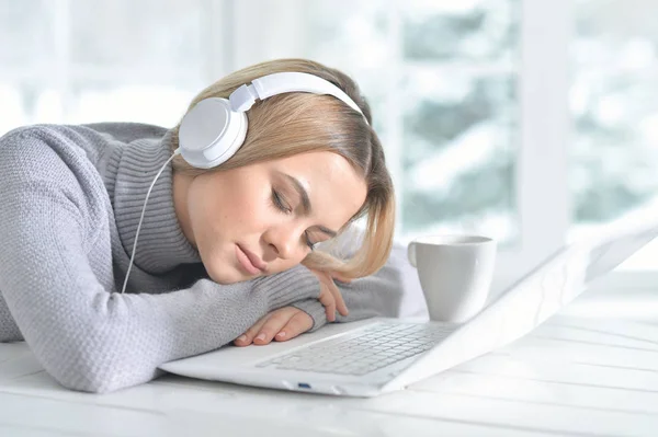
[[[35,125],[0,138],[0,341],[24,340],[67,388],[107,392],[230,342],[290,340],[336,311],[395,315],[394,191],[350,78],[263,62],[202,91],[188,114],[279,72],[348,97],[256,102],[241,147],[213,168],[177,153],[180,124]],[[363,216],[358,248],[317,248]]]

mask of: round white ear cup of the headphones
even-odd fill
[[[181,120],[181,156],[198,169],[217,166],[242,146],[247,125],[247,114],[232,111],[228,100],[202,100]]]

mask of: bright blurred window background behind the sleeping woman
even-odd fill
[[[172,126],[230,71],[311,58],[371,102],[398,240],[491,235],[513,276],[658,215],[654,14],[650,0],[0,0],[0,135]],[[619,271],[616,284],[658,285],[658,243]]]

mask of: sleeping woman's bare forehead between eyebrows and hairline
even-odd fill
[[[313,216],[342,227],[365,202],[365,181],[338,153],[309,152],[271,161],[272,170],[296,177],[308,192]]]

